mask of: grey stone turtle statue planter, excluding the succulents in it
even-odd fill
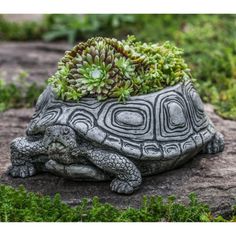
[[[26,137],[11,143],[9,173],[23,178],[43,171],[74,180],[112,179],[112,191],[131,194],[142,176],[223,148],[223,136],[205,114],[191,82],[133,96],[125,104],[95,98],[65,102],[48,86]]]

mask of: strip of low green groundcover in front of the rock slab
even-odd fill
[[[164,201],[162,197],[144,197],[139,209],[118,209],[101,203],[94,197],[76,207],[63,203],[59,194],[53,198],[0,185],[0,222],[225,222],[235,221],[222,216],[213,217],[208,206],[200,203],[194,194],[189,195],[189,204],[176,203],[174,197]]]

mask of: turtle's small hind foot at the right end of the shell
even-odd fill
[[[203,148],[202,153],[215,154],[224,150],[224,136],[216,132],[213,139]]]

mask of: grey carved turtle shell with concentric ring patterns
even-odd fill
[[[46,100],[52,97],[46,94]],[[38,129],[51,124],[69,125],[85,139],[139,160],[197,153],[215,134],[190,81],[131,97],[125,104],[116,99],[99,102],[84,98],[79,103],[54,99],[44,110],[38,124],[34,121]]]

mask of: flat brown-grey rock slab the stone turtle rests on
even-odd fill
[[[187,203],[188,194],[195,192],[207,203],[214,214],[229,215],[236,205],[236,122],[224,120],[214,113],[211,105],[205,106],[216,128],[225,135],[225,150],[215,155],[198,155],[184,166],[163,174],[143,179],[141,188],[130,196],[110,192],[109,182],[75,182],[50,174],[20,179],[6,174],[10,165],[9,143],[24,135],[33,109],[11,109],[0,113],[0,183],[11,186],[24,185],[29,191],[53,196],[60,193],[70,205],[86,197],[98,196],[120,208],[139,207],[144,195],[175,195]]]

